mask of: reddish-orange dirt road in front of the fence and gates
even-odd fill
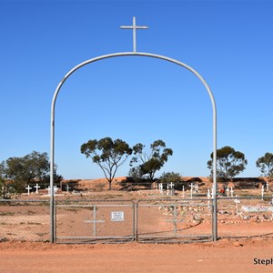
[[[272,272],[272,240],[217,243],[53,245],[0,243],[0,272]],[[260,261],[261,262],[261,261]]]

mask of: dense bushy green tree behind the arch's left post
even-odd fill
[[[10,157],[5,165],[5,177],[17,193],[25,191],[25,186],[32,182],[49,182],[50,163],[46,153],[33,151],[25,157]],[[62,179],[56,175],[55,167],[55,181]]]

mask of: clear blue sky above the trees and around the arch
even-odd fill
[[[273,152],[273,1],[0,1],[0,160],[50,148],[50,106],[66,73],[87,59],[132,51],[169,56],[195,68],[217,103],[217,147],[245,154],[240,177],[257,177]],[[56,164],[65,178],[103,177],[79,149],[110,136],[174,151],[162,171],[209,175],[212,107],[186,69],[123,56],[85,66],[56,101]],[[116,176],[126,176],[128,161]],[[160,172],[157,173],[157,176]]]

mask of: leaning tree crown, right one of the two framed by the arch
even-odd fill
[[[149,151],[144,151],[144,148],[145,145],[141,143],[133,147],[135,157],[130,161],[129,175],[153,180],[157,170],[164,166],[169,156],[173,155],[173,150],[167,148],[165,142],[160,139],[150,145]]]

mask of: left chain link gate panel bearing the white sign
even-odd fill
[[[135,239],[135,204],[126,200],[55,202],[56,243],[123,243]]]

